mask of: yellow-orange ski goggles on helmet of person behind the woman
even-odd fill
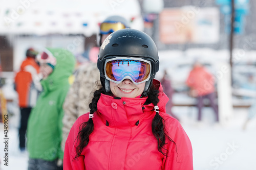
[[[125,25],[121,22],[103,22],[100,25],[100,33],[109,34],[125,28]]]

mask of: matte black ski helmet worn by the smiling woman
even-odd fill
[[[138,57],[151,62],[151,77],[145,84],[143,95],[147,91],[159,70],[159,56],[155,42],[146,33],[135,29],[122,29],[110,34],[100,46],[98,69],[100,81],[106,92],[110,91],[109,80],[105,79],[104,64],[106,59],[114,57]]]

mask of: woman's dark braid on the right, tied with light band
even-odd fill
[[[151,90],[150,90],[150,93],[148,94],[146,103],[153,103],[155,106],[157,106],[159,102],[158,94],[159,94],[159,91],[157,90],[157,88],[154,85],[151,86]],[[157,111],[159,110],[157,109]],[[164,145],[166,144],[165,143],[166,137],[171,142],[174,142],[174,141],[165,133],[165,131],[166,130],[165,130],[164,119],[159,115],[158,112],[156,112],[156,115],[152,121],[152,132],[158,142],[157,144],[158,151],[161,152],[164,156],[167,156],[168,150],[164,148]],[[174,144],[176,146],[175,142]],[[166,152],[164,153],[162,150],[165,150]]]

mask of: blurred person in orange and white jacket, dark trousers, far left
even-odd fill
[[[18,93],[18,104],[20,108],[20,126],[19,126],[19,149],[25,151],[26,131],[28,118],[32,107],[35,106],[37,96],[41,90],[39,84],[39,65],[35,57],[38,54],[34,48],[26,51],[26,59],[20,65],[14,80],[14,88]]]

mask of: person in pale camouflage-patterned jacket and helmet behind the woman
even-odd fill
[[[104,39],[114,31],[130,28],[129,22],[122,16],[109,16],[100,24],[99,42],[101,45]],[[90,109],[88,107],[90,101],[90,93],[95,90],[96,82],[99,81],[99,71],[97,68],[98,52],[97,54],[89,54],[90,62],[82,64],[77,70],[77,76],[67,94],[65,103],[63,105],[63,129],[62,129],[62,143],[61,147],[64,151],[65,142],[68,138],[69,131],[76,119],[87,113]],[[93,51],[95,53],[95,50]]]

